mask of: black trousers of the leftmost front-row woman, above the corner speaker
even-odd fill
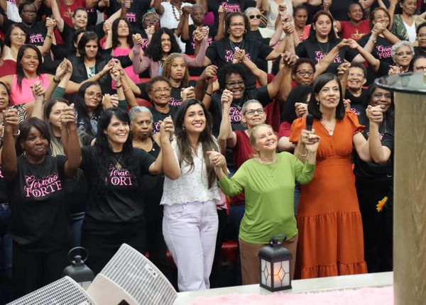
[[[69,262],[65,247],[46,253],[28,253],[13,242],[12,282],[15,298],[60,279],[67,265]]]

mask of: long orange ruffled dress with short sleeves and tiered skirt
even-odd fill
[[[290,142],[297,143],[305,118],[293,122]],[[337,120],[334,135],[314,120],[321,141],[314,179],[301,185],[295,278],[366,273],[361,214],[351,166],[352,137],[364,126],[352,112]]]

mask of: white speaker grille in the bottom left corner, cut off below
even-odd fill
[[[70,277],[31,292],[8,305],[94,305],[81,287]]]

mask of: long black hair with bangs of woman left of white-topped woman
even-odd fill
[[[107,187],[108,167],[111,163],[111,154],[113,153],[111,145],[109,144],[108,135],[105,130],[108,128],[111,118],[115,116],[122,122],[127,122],[130,126],[129,114],[123,109],[112,107],[104,111],[99,117],[98,131],[96,135],[96,142],[94,143],[96,158],[97,172],[99,173],[98,185],[101,188]],[[126,165],[126,169],[132,174],[136,173],[136,162],[133,157],[133,144],[131,133],[123,145],[121,160]],[[135,175],[135,185],[138,184]]]

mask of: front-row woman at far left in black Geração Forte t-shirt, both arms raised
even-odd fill
[[[16,110],[6,113],[3,174],[11,205],[12,276],[23,296],[62,276],[67,265],[68,209],[63,181],[80,165],[80,144],[72,106],[62,109],[62,133],[68,133],[67,157],[48,155],[50,134],[39,118],[19,124]],[[23,155],[16,157],[15,139]]]

